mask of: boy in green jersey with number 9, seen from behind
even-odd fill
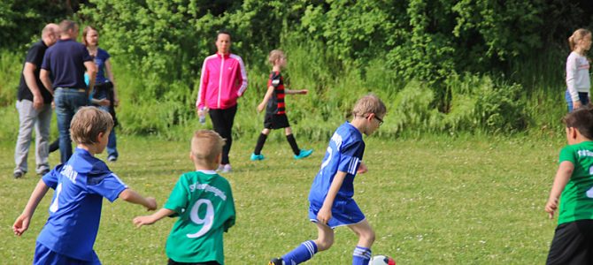
[[[235,224],[235,202],[227,179],[216,173],[225,144],[218,133],[199,130],[189,157],[196,171],[181,175],[163,208],[134,218],[137,227],[178,216],[166,240],[168,264],[224,264],[222,233]]]

